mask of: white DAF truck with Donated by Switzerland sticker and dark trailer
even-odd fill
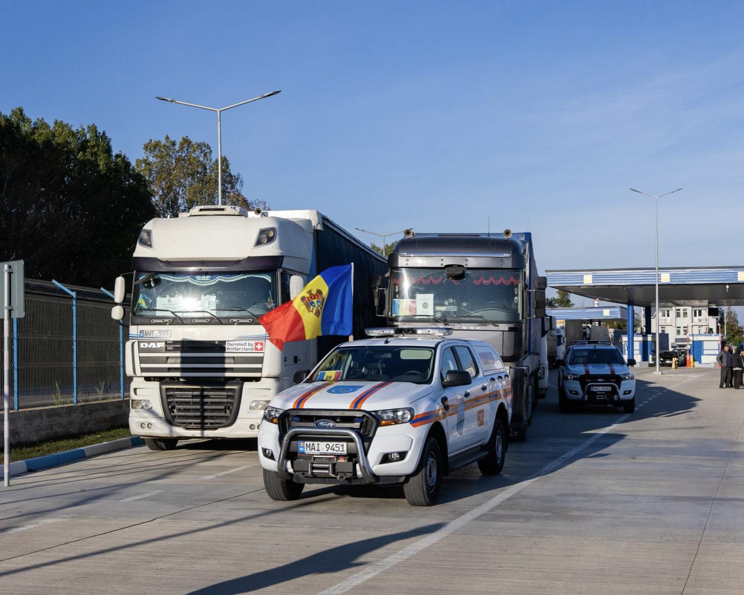
[[[354,263],[354,334],[374,324],[385,259],[318,211],[197,206],[153,219],[134,252],[126,374],[129,430],[153,450],[179,439],[258,435],[263,409],[348,337],[277,349],[263,314],[327,267]],[[124,301],[123,277],[115,300]],[[115,319],[124,317],[119,305]]]

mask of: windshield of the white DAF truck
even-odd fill
[[[255,318],[273,310],[276,273],[136,273],[133,316]]]

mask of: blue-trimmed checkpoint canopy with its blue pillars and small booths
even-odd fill
[[[635,308],[641,308],[644,327],[652,328],[652,308],[655,308],[656,272],[642,269],[571,269],[548,270],[548,287],[568,291],[577,296],[603,302],[626,305],[628,328],[633,328]],[[660,267],[658,270],[659,308],[675,306],[708,308],[744,305],[744,265],[734,267]],[[664,333],[659,335],[661,343]],[[668,335],[667,335],[668,337]],[[690,351],[696,363],[710,364],[720,345],[718,334],[693,335]],[[655,340],[654,340],[655,342]],[[644,342],[633,340],[623,353],[638,361],[648,361],[652,351]],[[662,351],[663,346],[660,345]],[[638,349],[641,351],[639,352]],[[715,360],[713,355],[713,360]]]

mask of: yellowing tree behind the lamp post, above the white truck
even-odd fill
[[[178,217],[197,205],[217,203],[217,159],[205,142],[184,136],[178,143],[170,136],[144,144],[144,157],[135,168],[147,179],[159,217]],[[266,209],[262,200],[249,201],[243,196],[243,176],[230,171],[230,162],[222,156],[222,204]]]

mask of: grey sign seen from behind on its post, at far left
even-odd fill
[[[4,485],[10,486],[10,321],[23,318],[23,261],[0,263],[3,295],[3,471]]]

